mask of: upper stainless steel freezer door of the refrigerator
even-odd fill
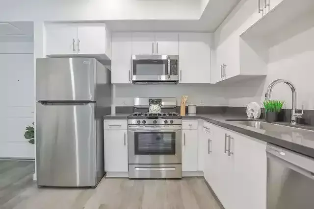
[[[36,59],[36,101],[95,101],[93,58]]]

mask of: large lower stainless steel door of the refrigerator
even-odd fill
[[[95,103],[36,103],[37,185],[95,186]]]

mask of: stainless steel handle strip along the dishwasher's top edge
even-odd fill
[[[288,163],[289,167],[296,170],[311,179],[314,179],[314,159],[301,155],[299,153],[278,147],[272,144],[267,144],[267,157],[275,157]]]

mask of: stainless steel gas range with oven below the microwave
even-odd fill
[[[148,111],[152,98],[135,98],[128,117],[129,178],[182,178],[182,117],[176,98],[154,98],[162,112]],[[167,111],[167,112],[163,112]]]

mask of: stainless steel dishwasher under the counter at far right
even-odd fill
[[[267,145],[267,209],[314,209],[314,159]]]

